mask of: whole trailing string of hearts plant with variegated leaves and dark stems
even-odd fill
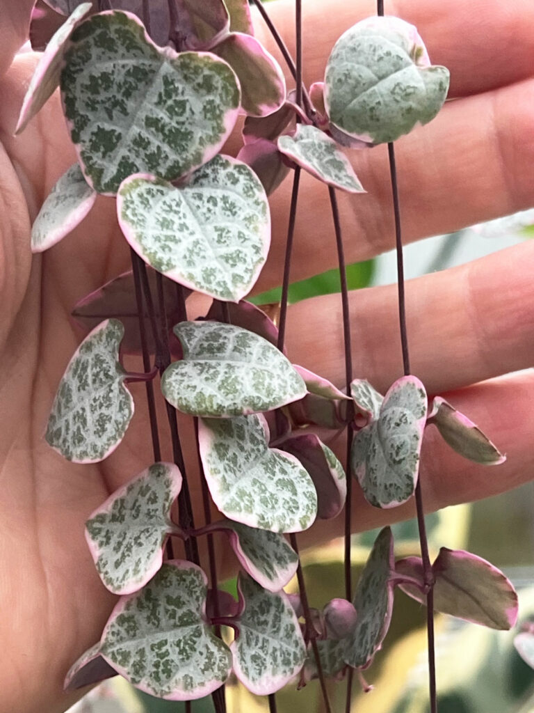
[[[432,66],[417,30],[395,17],[359,22],[335,44],[324,81],[303,86],[301,6],[295,2],[295,62],[266,9],[295,78],[253,37],[245,0],[152,0],[106,4],[46,0],[68,16],[48,37],[28,87],[17,131],[61,86],[78,163],[56,183],[32,230],[41,252],[66,237],[97,194],[115,198],[132,270],[82,299],[73,315],[88,332],[66,368],[46,440],[75,463],[103,461],[134,413],[127,385],[145,381],[153,459],[88,519],[85,535],[98,574],[119,595],[102,637],[66,676],[75,689],[121,674],[145,692],[191,701],[213,694],[224,711],[233,671],[269,696],[291,679],[370,666],[382,645],[399,586],[428,611],[430,708],[437,710],[434,611],[497,629],[515,623],[511,583],[485,560],[426,543],[419,457],[426,428],[481,464],[503,456],[444,399],[430,400],[410,374],[402,235],[393,142],[429,122],[444,103],[446,68]],[[35,11],[37,14],[37,11]],[[41,11],[39,11],[41,12]],[[222,155],[240,113],[244,146]],[[337,190],[364,189],[344,148],[387,144],[399,267],[404,376],[385,396],[352,374],[347,282]],[[375,149],[380,150],[380,149]],[[267,196],[293,171],[278,327],[244,299],[271,239]],[[288,284],[300,172],[325,183],[342,284],[346,388],[291,364],[284,353]],[[187,298],[213,299],[187,319]],[[142,356],[144,371],[122,366]],[[162,461],[159,376],[173,461]],[[363,375],[365,376],[365,375]],[[197,432],[205,522],[194,523],[177,410]],[[347,433],[347,466],[365,498],[393,508],[415,496],[421,558],[394,561],[384,528],[354,592],[350,579],[352,478],[314,427]],[[326,438],[325,440],[329,440]],[[424,476],[424,473],[423,473]],[[211,501],[221,519],[211,521]],[[177,503],[177,510],[175,509]],[[345,508],[345,597],[311,610],[296,534]],[[213,538],[223,533],[241,565],[239,601],[217,588]],[[290,544],[283,533],[290,533]],[[201,563],[197,539],[208,538]],[[177,559],[179,541],[185,559]],[[201,569],[209,570],[209,579]],[[299,595],[283,587],[297,575]],[[208,585],[209,583],[209,585]],[[231,627],[227,645],[220,627]]]

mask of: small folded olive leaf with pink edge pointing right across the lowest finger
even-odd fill
[[[506,456],[498,451],[481,429],[441,396],[434,399],[427,423],[434,424],[444,441],[470,461],[483,466],[497,466],[506,461]]]

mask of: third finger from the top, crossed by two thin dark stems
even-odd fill
[[[406,283],[412,373],[429,394],[528,368],[534,354],[534,242]],[[353,374],[384,393],[402,376],[397,286],[350,293]],[[344,383],[340,296],[288,311],[296,364]]]

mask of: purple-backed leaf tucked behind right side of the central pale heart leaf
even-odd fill
[[[280,448],[298,458],[313,480],[317,491],[319,518],[335,518],[347,497],[345,471],[334,453],[315,434],[292,436]]]

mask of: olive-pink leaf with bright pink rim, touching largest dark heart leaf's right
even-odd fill
[[[268,116],[286,101],[286,79],[276,59],[258,40],[232,32],[214,48],[239,78],[241,108],[249,116]]]

